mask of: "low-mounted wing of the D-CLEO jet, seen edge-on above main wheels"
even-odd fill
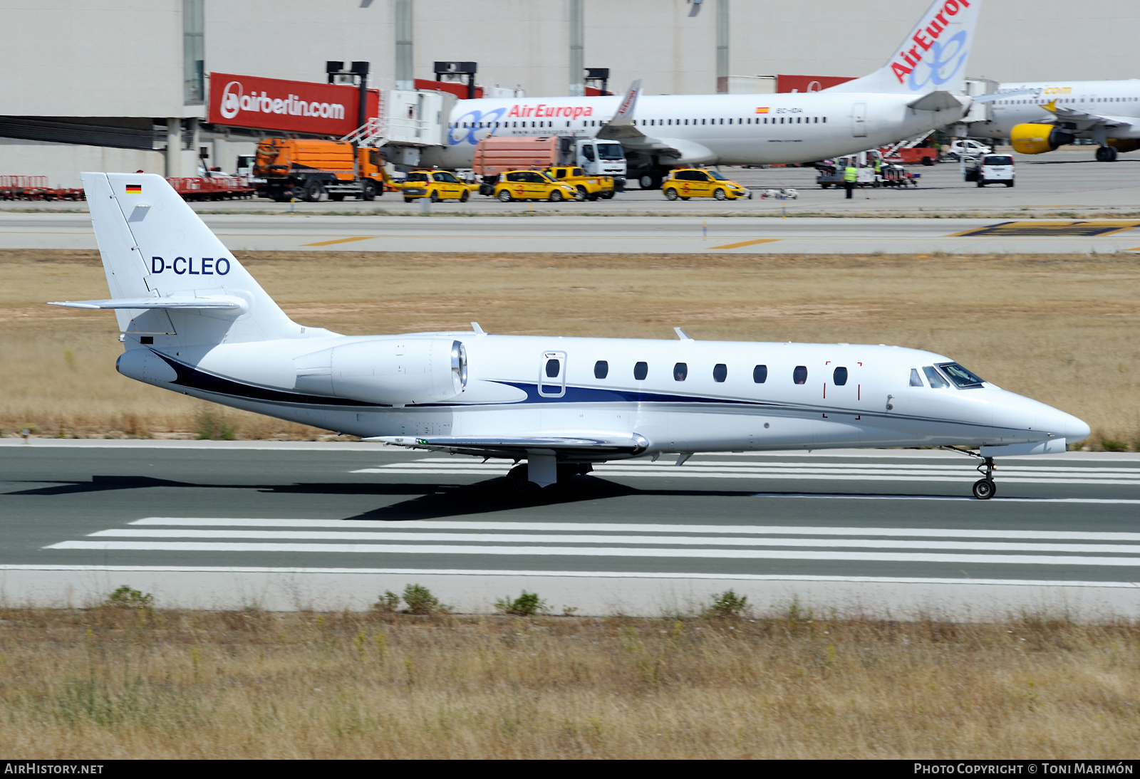
[[[365,438],[365,441],[375,441],[407,449],[427,449],[454,452],[456,454],[511,459],[523,459],[529,454],[578,454],[587,457],[597,457],[600,454],[640,454],[649,448],[649,441],[636,433],[633,435],[604,437],[382,435],[375,438]]]

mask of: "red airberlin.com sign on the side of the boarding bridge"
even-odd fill
[[[210,74],[211,124],[286,132],[347,136],[356,130],[360,91],[309,81]],[[367,117],[376,116],[380,93],[368,90]]]

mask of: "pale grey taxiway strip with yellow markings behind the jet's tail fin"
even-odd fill
[[[991,254],[1140,251],[1140,220],[207,214],[230,251]],[[95,249],[85,214],[0,213],[0,248]]]

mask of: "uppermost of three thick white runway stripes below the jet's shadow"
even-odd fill
[[[146,517],[131,525],[165,527],[319,527],[328,530],[404,531],[417,538],[421,531],[508,531],[549,533],[716,533],[726,535],[839,535],[933,539],[1018,539],[1031,541],[1140,541],[1140,533],[1081,531],[1005,531],[936,527],[800,527],[796,525],[666,525],[612,522],[456,522],[425,519],[384,522],[382,519],[266,519],[243,517]],[[634,536],[641,539],[642,536]]]

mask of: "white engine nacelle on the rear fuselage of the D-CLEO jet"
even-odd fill
[[[295,390],[381,405],[438,403],[467,384],[467,351],[451,338],[368,338],[294,360]]]

